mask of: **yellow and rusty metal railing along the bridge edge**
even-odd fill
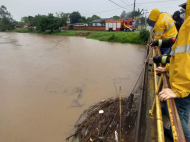
[[[161,55],[159,47],[157,47],[156,51],[155,49],[152,50],[152,56],[154,57],[156,55]],[[156,69],[156,64],[154,63],[154,65],[152,66],[152,72],[155,69]],[[167,74],[162,73],[158,83],[157,74],[154,71],[154,85],[155,85],[155,98],[152,105],[152,109],[149,110],[149,114],[154,115],[154,113],[156,112],[158,142],[165,142],[162,111],[158,94],[163,86],[164,88],[170,88]],[[167,100],[167,107],[169,112],[170,124],[172,128],[173,141],[186,142],[174,99]]]

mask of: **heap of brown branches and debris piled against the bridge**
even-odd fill
[[[131,99],[121,99],[121,141],[134,140],[138,97],[134,97],[133,99],[135,107],[131,108],[130,102]],[[120,131],[119,98],[100,101],[99,103],[91,106],[81,114],[79,120],[77,120],[77,123],[75,124],[75,127],[75,133],[69,136],[66,140],[69,140],[72,137],[73,141],[76,141],[76,138],[78,138],[80,142],[119,142],[120,138],[117,133]]]

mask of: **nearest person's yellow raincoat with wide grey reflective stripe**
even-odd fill
[[[170,74],[170,85],[178,98],[190,94],[190,0],[186,5],[186,19],[180,28],[178,39],[172,47],[170,64],[165,70]]]

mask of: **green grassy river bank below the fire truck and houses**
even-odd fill
[[[133,43],[133,44],[141,44],[145,45],[147,43],[149,32],[146,30],[142,30],[140,33],[136,32],[107,32],[107,31],[82,31],[82,30],[67,30],[62,32],[54,32],[50,31],[39,32],[36,30],[30,31],[28,29],[15,29],[8,32],[18,32],[18,33],[36,33],[36,34],[51,34],[51,35],[59,35],[59,36],[80,36],[87,34],[87,39],[95,39],[99,41],[107,41],[107,42],[118,42],[118,43]]]

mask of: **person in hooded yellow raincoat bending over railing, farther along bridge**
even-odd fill
[[[154,28],[154,40],[168,39],[177,35],[177,29],[173,18],[168,13],[160,13],[157,8],[150,12],[147,23],[149,26]],[[162,48],[160,50],[161,54],[164,54],[168,53],[170,48]]]

